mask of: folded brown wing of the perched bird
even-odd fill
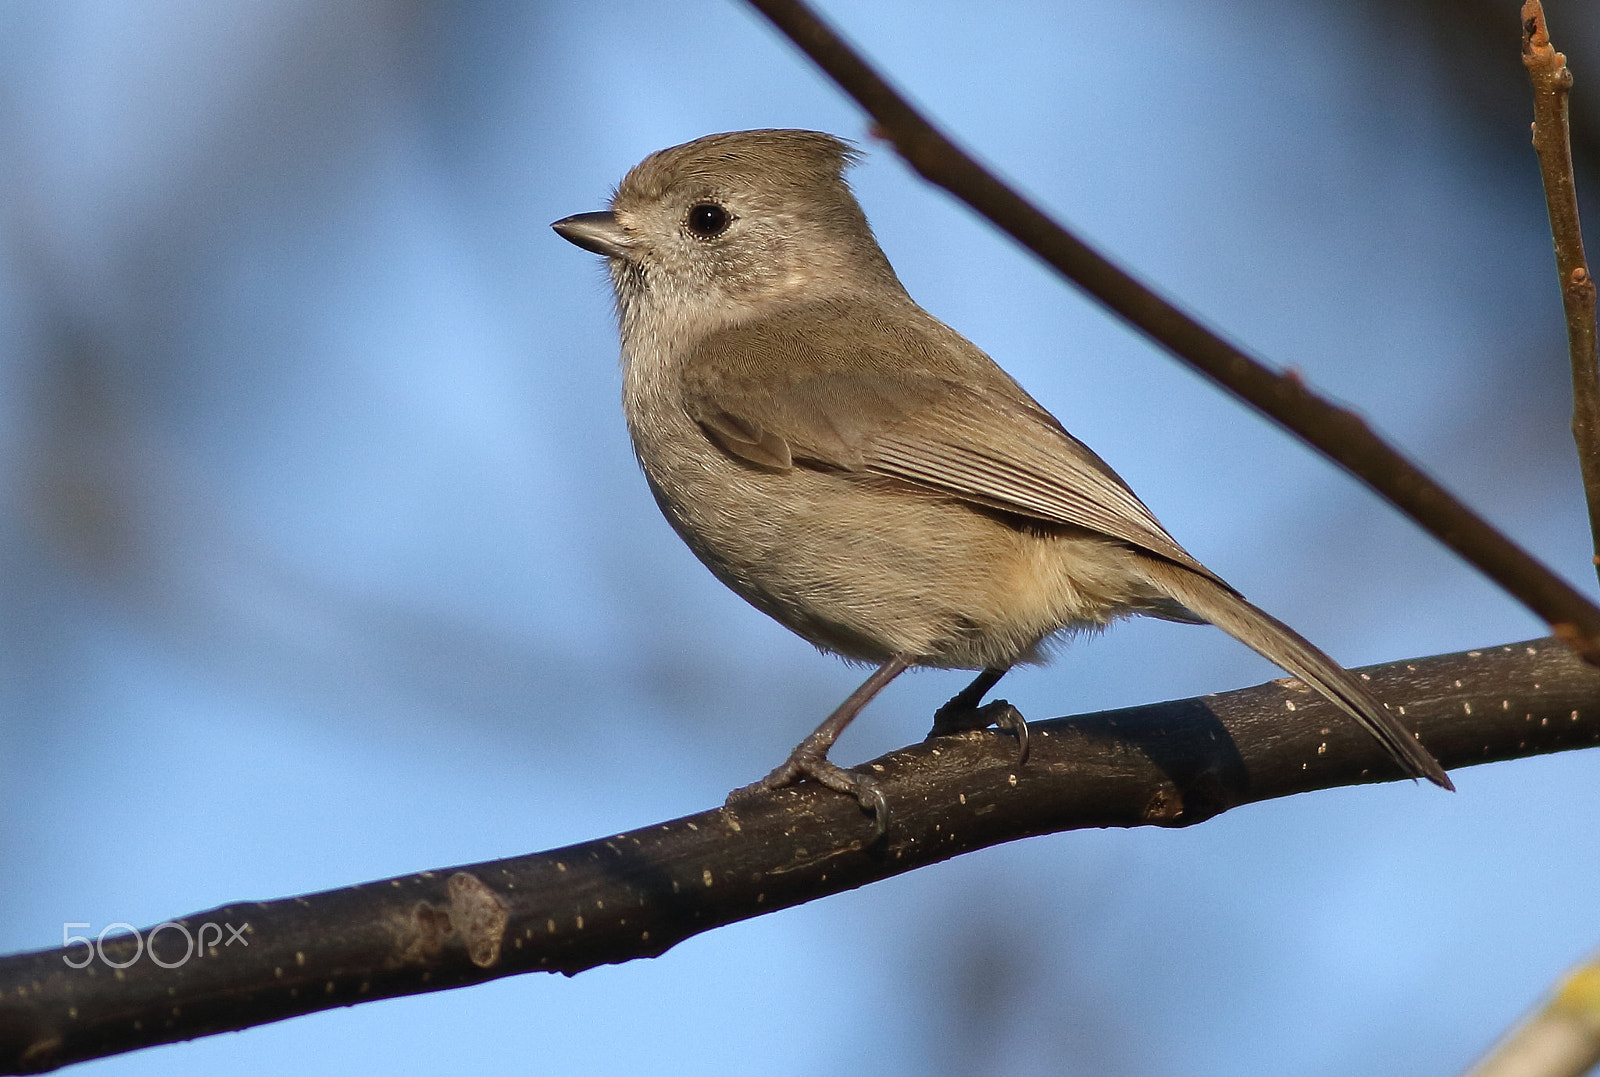
[[[973,344],[938,323],[941,333],[910,320],[854,322],[864,320],[818,312],[707,336],[682,368],[690,416],[758,467],[891,477],[1088,528],[1218,579]]]

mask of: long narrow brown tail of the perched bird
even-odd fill
[[[1445,768],[1347,669],[1299,632],[1250,605],[1238,592],[1182,565],[1147,557],[1146,575],[1168,595],[1267,661],[1294,674],[1362,723],[1413,778],[1454,789]]]

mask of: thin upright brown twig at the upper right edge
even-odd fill
[[[1544,203],[1550,211],[1550,237],[1555,242],[1555,270],[1562,280],[1562,306],[1566,309],[1566,349],[1573,358],[1573,440],[1578,442],[1595,571],[1600,573],[1600,347],[1595,339],[1595,282],[1584,259],[1566,123],[1573,72],[1566,67],[1566,56],[1550,43],[1539,0],[1522,5],[1522,62],[1533,83],[1533,149],[1539,155]]]

